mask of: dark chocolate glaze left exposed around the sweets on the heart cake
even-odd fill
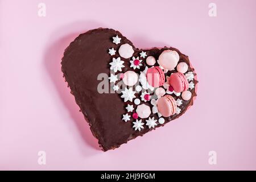
[[[65,81],[68,82],[68,86],[71,89],[71,93],[75,96],[77,105],[79,105],[82,114],[86,118],[86,121],[90,125],[94,137],[98,139],[98,143],[102,147],[102,150],[107,151],[119,147],[123,143],[127,143],[128,140],[134,139],[139,135],[143,135],[151,129],[148,129],[144,125],[144,129],[141,131],[135,131],[133,129],[133,118],[131,121],[123,122],[122,114],[127,113],[125,109],[129,102],[123,102],[123,99],[116,93],[103,93],[97,92],[97,86],[102,80],[97,80],[97,76],[100,73],[106,73],[110,75],[109,63],[112,61],[112,57],[119,57],[118,49],[121,44],[114,44],[112,37],[118,35],[121,38],[121,44],[128,43],[133,46],[125,36],[119,31],[115,31],[109,28],[98,28],[80,34],[64,51],[64,56],[61,61],[61,70],[64,73]],[[117,50],[114,56],[110,56],[108,53],[109,48]],[[147,52],[147,56],[154,56],[158,59],[160,53],[166,49],[175,50],[180,55],[180,61],[184,61],[188,64],[188,71],[195,73],[194,69],[189,63],[188,56],[182,54],[178,49],[172,47],[164,48],[151,48],[151,49],[138,49],[134,48],[134,55],[139,56],[141,51]],[[133,70],[130,68],[130,59],[123,59],[125,61],[125,68],[122,68],[122,72],[127,70]],[[146,61],[143,61],[141,69],[135,69],[135,72],[139,73],[144,70]],[[133,70],[134,71],[134,70]],[[175,72],[175,71],[172,71]],[[171,75],[171,72],[168,72]],[[197,81],[193,81],[195,86]],[[193,97],[196,96],[195,88],[191,90],[192,98],[189,101],[183,101],[180,106],[181,113],[179,115],[172,115],[165,118],[164,125],[171,120],[179,118],[184,114],[188,106],[193,105]],[[177,97],[174,94],[172,96],[177,100],[181,99],[181,96]],[[138,97],[138,95],[137,95]],[[146,105],[150,105],[146,102]],[[130,114],[131,115],[131,114]],[[150,117],[158,119],[157,114],[152,114]],[[143,119],[144,122],[145,119]],[[164,126],[164,125],[157,125]]]

